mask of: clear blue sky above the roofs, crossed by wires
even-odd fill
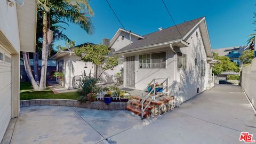
[[[108,0],[127,30],[139,35],[157,31],[159,27],[173,26],[161,0]],[[212,49],[245,45],[247,35],[253,33],[256,25],[252,22],[256,10],[253,0],[165,0],[175,23],[206,17]],[[95,13],[92,18],[94,34],[88,35],[79,26],[70,24],[65,34],[76,45],[91,42],[102,43],[102,38],[111,39],[121,27],[105,0],[92,0],[90,5]],[[65,46],[64,41],[55,42]]]

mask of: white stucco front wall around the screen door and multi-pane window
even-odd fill
[[[166,68],[139,68],[139,55],[147,54],[147,53],[157,53],[157,52],[166,52]],[[169,84],[172,85],[173,82],[173,67],[174,61],[173,56],[174,53],[171,51],[170,47],[155,49],[145,52],[136,52],[125,54],[124,57],[129,57],[135,55],[135,88],[138,90],[145,90],[147,85],[154,78],[169,78]],[[124,58],[125,60],[125,58]],[[126,68],[126,63],[124,62],[124,68]],[[161,83],[159,81],[159,83]],[[124,70],[124,86],[126,83],[126,70]]]

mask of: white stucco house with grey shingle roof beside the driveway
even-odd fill
[[[177,30],[177,27],[180,31]],[[140,36],[119,28],[110,41],[124,55],[124,86],[145,90],[154,78],[168,78],[170,94],[182,103],[214,86],[205,17]]]

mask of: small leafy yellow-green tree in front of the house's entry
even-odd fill
[[[104,71],[113,69],[118,65],[117,56],[109,56],[109,49],[106,45],[85,45],[75,49],[75,54],[85,62],[92,62],[96,66],[95,77],[99,78]],[[103,70],[98,76],[99,67]]]

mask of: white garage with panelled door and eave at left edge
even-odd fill
[[[0,141],[19,116],[20,51],[35,52],[37,1],[0,1]]]

